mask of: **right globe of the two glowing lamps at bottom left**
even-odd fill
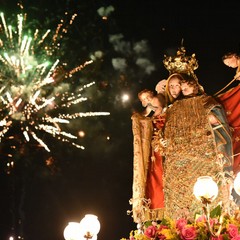
[[[80,221],[81,232],[84,236],[84,239],[97,239],[97,234],[100,231],[100,222],[98,217],[93,214],[87,214]]]

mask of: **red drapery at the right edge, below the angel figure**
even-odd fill
[[[235,174],[240,172],[240,85],[219,95],[217,100],[223,105],[232,131]]]

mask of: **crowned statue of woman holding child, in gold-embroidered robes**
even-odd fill
[[[214,204],[221,201],[224,211],[230,211],[233,150],[224,108],[199,83],[195,54],[187,56],[181,46],[176,56],[165,56],[163,64],[169,72],[164,93],[145,96],[145,91],[139,96],[153,114],[132,116],[134,222],[194,218],[202,211],[193,195],[201,176],[217,182]],[[153,98],[159,99],[161,111],[156,111]]]

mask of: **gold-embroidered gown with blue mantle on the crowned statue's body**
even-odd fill
[[[208,115],[219,121],[213,128]],[[224,112],[213,98],[201,95],[177,100],[168,108],[164,136],[167,140],[164,162],[165,216],[193,217],[201,204],[193,195],[193,186],[200,176],[212,176],[231,170],[231,135]],[[225,161],[224,164],[222,161]],[[227,202],[229,192],[220,188],[219,199]]]

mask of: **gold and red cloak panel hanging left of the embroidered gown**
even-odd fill
[[[159,134],[161,119],[132,116],[133,130],[133,196],[131,199],[134,222],[162,218],[163,180]]]

